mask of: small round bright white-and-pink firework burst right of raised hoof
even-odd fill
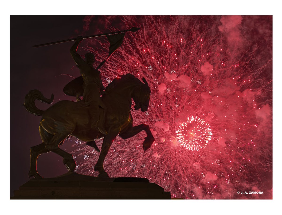
[[[199,148],[205,148],[209,143],[212,133],[210,125],[204,119],[192,116],[179,126],[176,137],[181,146],[191,151],[199,151]]]

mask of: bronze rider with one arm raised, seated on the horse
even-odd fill
[[[80,55],[76,52],[82,37],[78,36],[74,45],[70,48],[70,54],[74,59],[80,74],[83,78],[83,101],[85,105],[89,105],[90,116],[93,119],[91,125],[92,129],[97,128],[102,134],[107,134],[105,128],[100,121],[99,106],[106,109],[107,107],[101,100],[101,91],[103,84],[100,72],[93,68],[95,56],[91,52],[85,54],[85,61],[81,59]]]

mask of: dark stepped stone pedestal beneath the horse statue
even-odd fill
[[[146,178],[98,178],[68,172],[30,179],[10,199],[171,199],[170,192]]]

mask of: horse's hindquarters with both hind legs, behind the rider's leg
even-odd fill
[[[25,106],[28,110],[28,104]],[[102,138],[102,136],[98,136],[98,132],[91,129],[88,108],[81,102],[60,101],[45,111],[39,112],[36,108],[34,110],[38,113],[37,115],[42,113],[39,124],[42,143],[30,148],[30,171],[28,174],[30,177],[41,177],[36,170],[37,158],[40,154],[50,151],[63,157],[63,163],[69,171],[75,170],[76,163],[73,156],[59,148],[70,135],[76,136],[82,141]]]

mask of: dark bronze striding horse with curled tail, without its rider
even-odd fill
[[[140,124],[133,127],[131,116],[132,100],[135,102],[135,110],[142,112],[148,110],[151,90],[145,78],[140,81],[131,74],[115,78],[105,89],[102,100],[107,109],[100,108],[100,119],[104,119],[104,126],[108,134],[91,129],[91,117],[89,107],[82,101],[59,101],[47,110],[39,110],[35,106],[38,99],[44,103],[51,104],[54,100],[52,94],[47,99],[39,90],[31,90],[25,97],[25,108],[28,112],[42,116],[39,124],[39,133],[42,139],[41,144],[30,148],[30,171],[29,177],[42,178],[36,169],[37,158],[40,154],[54,152],[63,157],[63,163],[70,172],[76,168],[76,163],[71,154],[60,149],[66,138],[74,136],[82,141],[87,141],[87,145],[93,146],[96,150],[96,139],[103,139],[103,145],[94,170],[99,171],[100,177],[109,177],[103,169],[104,159],[116,136],[122,139],[131,138],[140,131],[145,130],[147,137],[143,142],[144,151],[151,147],[155,138],[153,137],[149,125]]]

